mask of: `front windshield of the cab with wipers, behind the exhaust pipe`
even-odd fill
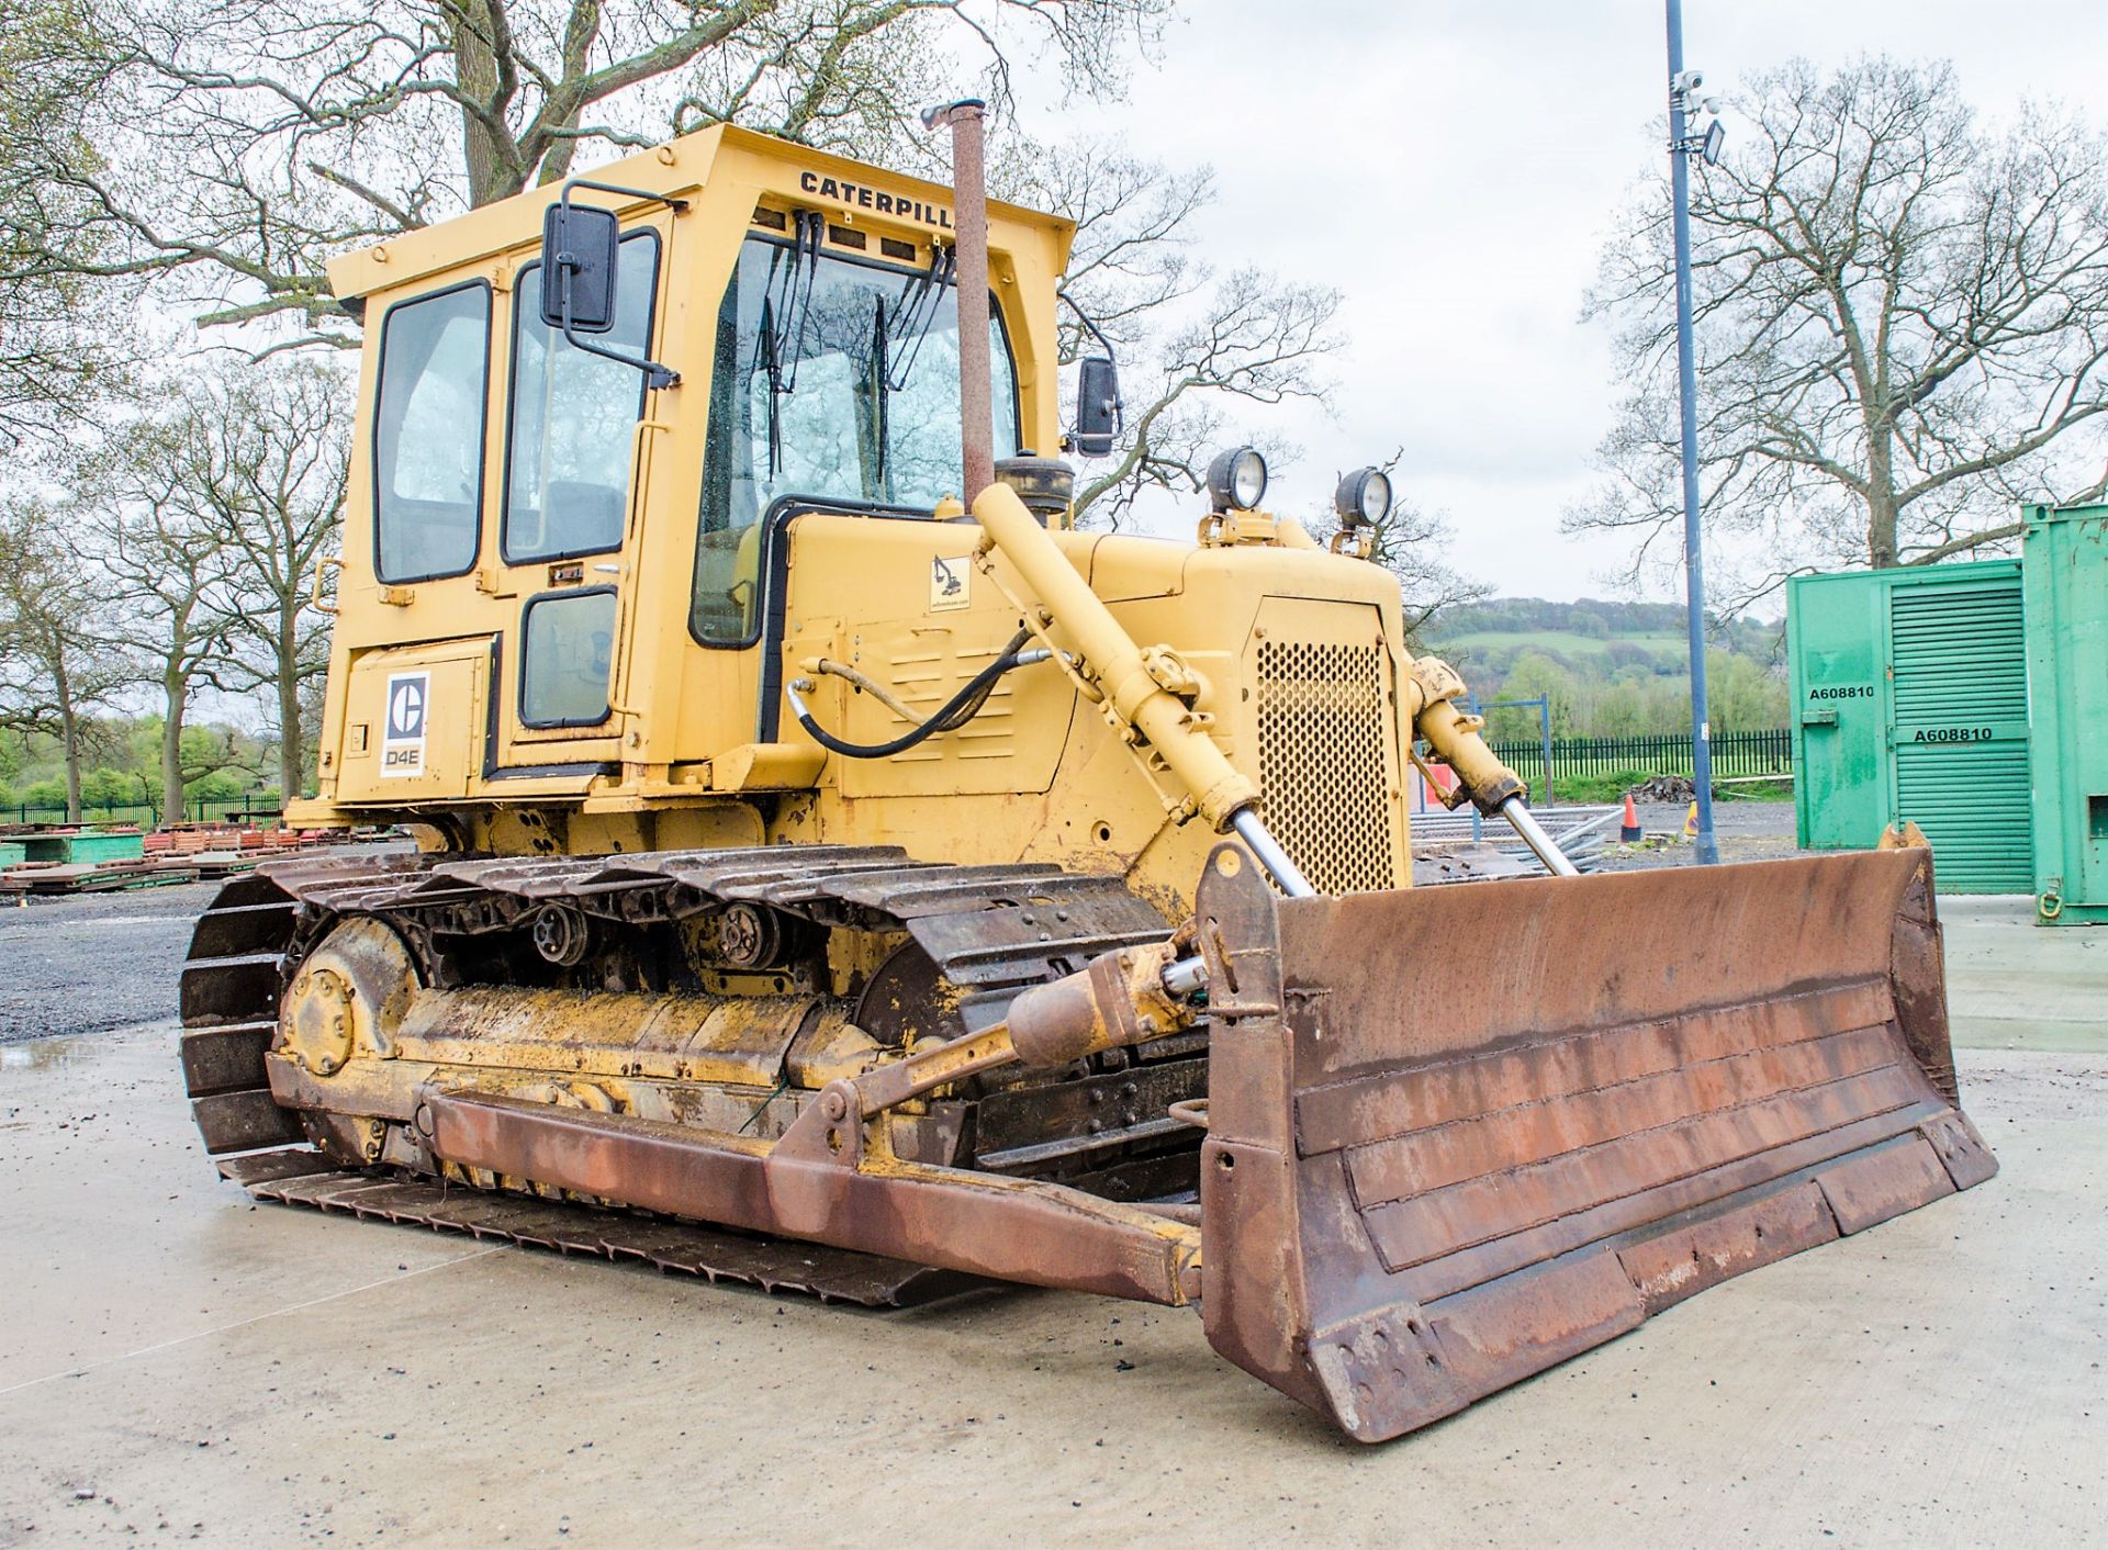
[[[780,496],[930,508],[968,493],[959,489],[959,308],[942,278],[860,264],[816,240],[750,236],[740,249],[710,367],[698,639],[753,637],[753,525]],[[989,346],[993,443],[1006,458],[1018,449],[1018,394],[993,302]]]

